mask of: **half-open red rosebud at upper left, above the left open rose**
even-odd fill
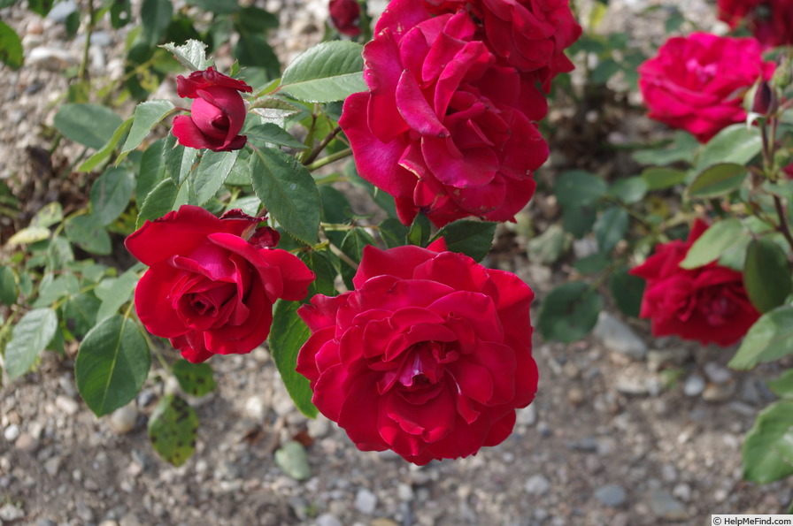
[[[189,115],[173,119],[173,136],[189,148],[212,151],[241,149],[248,138],[240,135],[245,124],[245,102],[241,91],[250,93],[242,80],[216,72],[210,66],[192,72],[185,79],[176,77],[176,92],[182,98],[196,99]]]

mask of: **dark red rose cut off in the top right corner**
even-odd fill
[[[719,0],[719,19],[745,24],[765,46],[793,44],[793,0]]]

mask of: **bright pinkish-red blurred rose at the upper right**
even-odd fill
[[[774,73],[774,62],[763,62],[762,51],[753,38],[694,33],[668,39],[638,69],[649,117],[710,141],[746,118],[744,93]]]

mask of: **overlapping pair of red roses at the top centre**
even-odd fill
[[[393,0],[364,48],[368,92],[339,124],[406,225],[512,220],[548,156],[535,122],[581,34],[566,0]]]

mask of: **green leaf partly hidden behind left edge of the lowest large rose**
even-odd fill
[[[312,404],[312,389],[306,377],[299,374],[297,352],[311,335],[309,328],[297,316],[300,304],[296,301],[275,302],[273,309],[273,328],[270,330],[269,346],[273,362],[281,373],[281,379],[296,407],[306,416],[317,416],[317,408]]]

